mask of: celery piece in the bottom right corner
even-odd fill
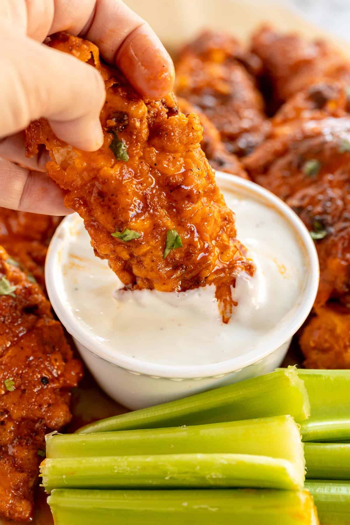
[[[310,480],[310,490],[321,525],[350,525],[350,481]]]

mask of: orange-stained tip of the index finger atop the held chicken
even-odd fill
[[[145,98],[160,99],[173,89],[173,61],[148,24],[137,27],[125,39],[115,61]]]

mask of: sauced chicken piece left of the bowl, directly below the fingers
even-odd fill
[[[61,217],[0,208],[0,245],[42,288],[47,247],[60,220]]]

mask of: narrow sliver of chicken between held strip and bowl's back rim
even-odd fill
[[[237,156],[226,150],[225,145],[221,142],[220,133],[203,111],[192,106],[186,99],[181,97],[178,98],[178,104],[180,111],[185,113],[185,115],[197,113],[200,124],[203,127],[203,139],[200,142],[200,147],[204,151],[210,166],[214,170],[224,171],[242,178],[249,178]]]

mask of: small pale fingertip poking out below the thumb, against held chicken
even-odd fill
[[[80,118],[73,121],[49,121],[52,131],[61,140],[83,151],[97,151],[103,144],[99,119]]]

